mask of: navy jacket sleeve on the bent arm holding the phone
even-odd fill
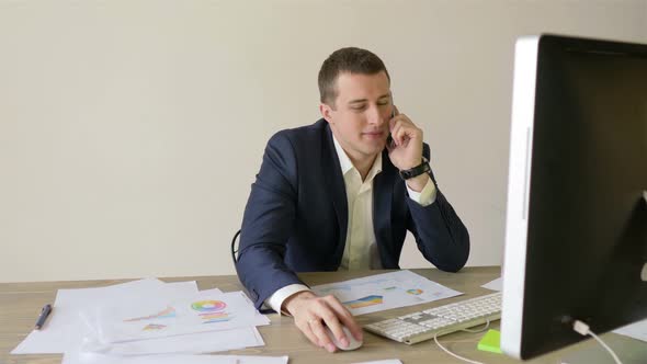
[[[429,146],[423,155],[429,159]],[[433,172],[431,180],[436,186],[435,202],[421,206],[407,198],[410,216],[407,229],[413,234],[418,250],[424,259],[442,271],[459,271],[469,257],[469,234],[456,212],[441,192]]]

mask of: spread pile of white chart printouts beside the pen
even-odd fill
[[[242,292],[198,292],[195,282],[148,278],[58,291],[49,321],[30,333],[12,354],[65,353],[67,364],[144,363],[143,356],[127,355],[156,354],[159,360],[159,354],[261,346],[264,342],[257,327],[269,323]],[[196,363],[227,362],[209,356]]]

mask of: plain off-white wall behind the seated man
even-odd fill
[[[636,1],[0,1],[0,281],[231,274],[268,138],[342,46],[387,65],[500,264],[519,35],[647,43]],[[404,268],[428,266],[408,241]]]

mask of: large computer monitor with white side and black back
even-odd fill
[[[512,104],[501,348],[530,359],[647,317],[647,45],[520,38]]]

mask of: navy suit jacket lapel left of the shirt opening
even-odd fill
[[[328,194],[332,198],[332,205],[337,213],[337,221],[340,231],[340,241],[338,241],[334,253],[341,261],[349,225],[349,205],[345,195],[343,175],[341,174],[341,166],[339,163],[337,151],[334,150],[332,132],[329,126],[326,126],[326,140],[322,143],[321,148],[321,171],[324,172],[324,180],[326,182],[324,187],[328,190]]]

